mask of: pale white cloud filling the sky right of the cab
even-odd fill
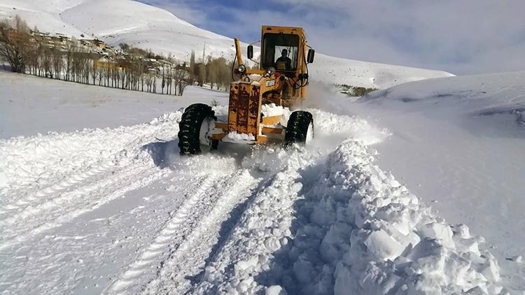
[[[306,24],[334,55],[456,73],[525,69],[525,1],[283,1],[321,20],[337,13],[334,27]]]

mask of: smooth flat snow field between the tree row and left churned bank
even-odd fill
[[[187,87],[188,96],[82,85],[0,71],[0,138],[147,122],[188,103],[227,103],[228,94]]]

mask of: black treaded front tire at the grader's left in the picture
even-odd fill
[[[181,154],[200,154],[200,127],[207,117],[215,117],[211,106],[204,103],[195,103],[188,106],[179,123],[179,148]]]

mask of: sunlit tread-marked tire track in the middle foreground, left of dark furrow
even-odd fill
[[[105,293],[137,294],[141,289],[151,288],[165,270],[171,273],[176,268],[182,277],[193,274],[195,268],[204,266],[204,260],[218,240],[222,222],[257,183],[258,180],[243,170],[228,175],[207,175],[197,185],[186,188],[186,192],[194,188],[197,192],[184,201],[155,242]],[[209,238],[200,240],[205,233]],[[197,242],[200,245],[196,245]],[[190,250],[196,250],[196,257],[179,261]],[[184,265],[179,267],[179,262]]]

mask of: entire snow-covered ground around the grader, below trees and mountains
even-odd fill
[[[137,92],[3,73],[2,115],[20,114],[4,134],[38,110],[55,113],[18,130],[59,132],[0,140],[0,293],[523,294],[523,78],[426,80],[363,101],[311,85],[311,145],[181,157],[180,108],[215,99],[223,116],[227,94],[140,107]],[[82,108],[90,128],[71,131]]]

